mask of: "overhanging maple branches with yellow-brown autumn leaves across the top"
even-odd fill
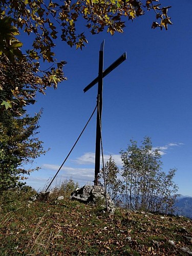
[[[26,61],[27,58],[27,65],[29,65],[31,73],[25,77],[25,81],[28,82],[28,88],[35,90],[35,93],[38,91],[45,94],[46,87],[56,88],[58,82],[67,79],[62,71],[62,63],[57,63],[54,58],[54,49],[57,45],[55,40],[60,35],[61,41],[65,41],[70,47],[82,49],[88,41],[84,33],[78,32],[82,28],[82,26],[79,27],[79,22],[84,20],[84,25],[92,34],[98,34],[107,29],[107,32],[114,35],[115,32],[123,32],[125,19],[133,21],[143,15],[145,10],[152,10],[156,19],[161,19],[161,23],[154,22],[152,24],[153,29],[165,27],[167,30],[167,25],[172,24],[167,16],[170,6],[160,8],[160,0],[78,0],[77,2],[66,0],[63,3],[62,1],[54,3],[53,0],[50,0],[48,2],[46,3],[45,0],[1,1],[0,58],[6,58],[11,63],[15,63],[17,60]],[[19,49],[23,46],[18,37],[19,31],[31,38],[29,39],[31,45],[24,42],[27,54]],[[59,73],[41,70],[41,60],[53,62],[50,67],[57,66]],[[9,70],[11,70],[11,66]],[[32,74],[35,74],[35,77]],[[0,90],[2,91],[4,88],[2,83]],[[14,88],[15,85],[12,89],[14,90]],[[18,91],[18,95],[15,93],[13,96],[20,101],[23,95],[20,89]],[[27,95],[27,98],[34,100],[34,95]],[[12,100],[11,104],[14,109],[15,105]],[[23,102],[21,104],[23,105]],[[9,104],[6,103],[6,106],[9,108]]]

